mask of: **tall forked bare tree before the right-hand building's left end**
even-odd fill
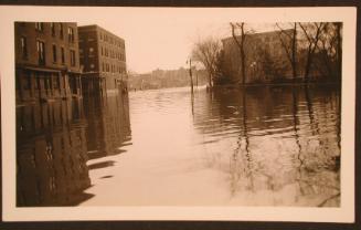
[[[245,23],[230,23],[231,29],[232,29],[232,36],[234,42],[236,43],[237,48],[240,49],[240,58],[241,58],[241,76],[242,76],[242,84],[245,84],[246,80],[246,58],[245,58],[245,39],[247,33],[245,32]],[[236,30],[240,30],[240,35],[236,35]]]

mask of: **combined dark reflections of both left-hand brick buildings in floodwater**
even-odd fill
[[[75,206],[94,195],[93,158],[130,139],[128,98],[89,97],[17,107],[17,206]]]

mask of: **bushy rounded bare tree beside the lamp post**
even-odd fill
[[[221,42],[212,36],[200,40],[193,45],[192,58],[194,61],[200,62],[206,70],[210,87],[213,87],[221,48]]]

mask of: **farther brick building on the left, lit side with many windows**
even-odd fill
[[[84,93],[127,88],[124,39],[98,25],[78,27]]]

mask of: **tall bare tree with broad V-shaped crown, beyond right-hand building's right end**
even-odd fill
[[[320,35],[322,30],[325,29],[325,22],[314,22],[314,23],[300,23],[298,22],[299,27],[304,31],[304,35],[306,36],[307,48],[306,48],[306,64],[305,64],[305,72],[304,79],[306,83],[309,83],[309,73],[312,65],[312,59],[315,51],[318,46],[318,42],[320,40]]]

